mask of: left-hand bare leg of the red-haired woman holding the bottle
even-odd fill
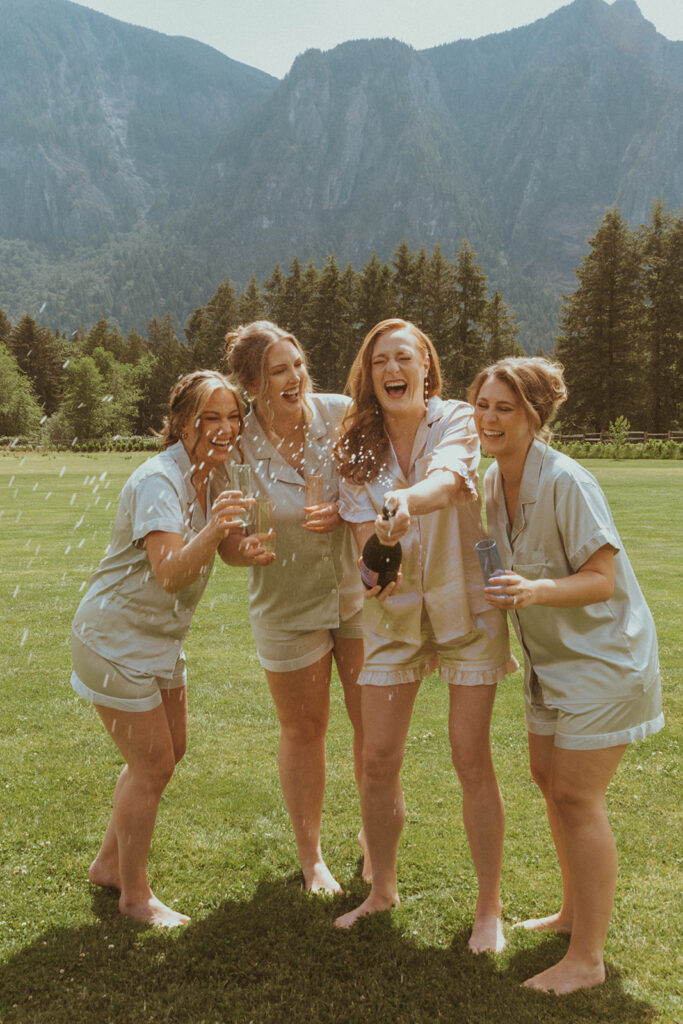
[[[342,914],[337,928],[398,904],[396,857],[405,820],[400,767],[420,680],[399,686],[364,686],[362,826],[373,864],[373,886],[360,906]]]

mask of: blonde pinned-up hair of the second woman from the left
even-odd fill
[[[301,398],[304,407],[304,421],[309,423],[312,412],[306,397],[312,392],[313,385],[308,374],[306,353],[296,337],[271,321],[254,321],[236,328],[234,331],[228,331],[225,335],[225,360],[231,379],[245,397],[249,397],[258,408],[259,419],[265,418],[264,426],[271,433],[273,432],[272,411],[267,399],[268,351],[278,341],[291,342],[303,360],[305,377]]]

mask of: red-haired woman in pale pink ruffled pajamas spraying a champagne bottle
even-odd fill
[[[434,347],[402,319],[383,321],[368,334],[348,388],[352,407],[337,446],[340,512],[360,550],[373,530],[384,544],[400,541],[402,580],[367,594],[360,794],[373,884],[337,925],[349,928],[398,903],[399,771],[420,683],[438,664],[449,683],[453,762],[479,882],[469,945],[474,952],[500,950],[505,821],[488,729],[497,683],[517,665],[504,616],[486,605],[474,550],[484,532],[472,410],[438,397]],[[390,522],[378,515],[385,504],[395,508]]]

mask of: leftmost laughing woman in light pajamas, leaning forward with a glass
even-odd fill
[[[173,388],[163,451],[124,485],[108,554],[74,618],[72,686],[95,706],[126,765],[90,881],[121,891],[119,909],[151,925],[189,919],[152,892],[146,861],[159,801],[185,751],[182,641],[219,544],[244,512],[212,471],[230,458],[240,399],[213,371]],[[245,560],[267,561],[257,539]]]

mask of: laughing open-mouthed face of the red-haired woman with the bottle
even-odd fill
[[[375,397],[385,416],[424,414],[429,356],[410,328],[380,335],[371,367]]]

